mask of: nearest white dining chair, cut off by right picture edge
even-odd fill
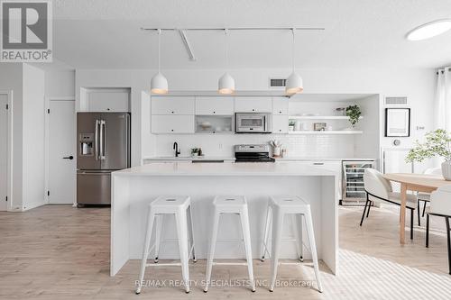
[[[451,218],[451,184],[442,186],[430,195],[430,205],[426,214],[426,247],[429,247],[429,217],[431,215],[445,218],[446,238],[448,248],[448,269],[451,275],[451,234],[449,228],[449,218]]]

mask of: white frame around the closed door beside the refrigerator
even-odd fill
[[[68,96],[68,95],[63,95],[63,96],[51,96],[51,97],[45,97],[45,117],[44,117],[44,145],[45,145],[45,149],[44,149],[44,203],[49,205],[50,203],[50,197],[48,195],[48,191],[49,191],[49,182],[50,182],[50,121],[51,121],[51,117],[50,117],[50,113],[49,110],[51,108],[51,101],[73,101],[74,102],[74,115],[73,115],[73,122],[77,125],[77,107],[76,107],[76,100],[75,100],[75,96]],[[75,131],[74,131],[74,139],[77,135],[77,126],[75,127]],[[75,164],[77,164],[77,148],[74,150],[75,155],[74,155],[74,159],[75,159]],[[75,193],[76,195],[74,195],[74,203],[72,204],[72,206],[77,207],[77,180],[74,182],[74,186],[75,186]]]

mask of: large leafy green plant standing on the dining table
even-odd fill
[[[446,180],[451,180],[451,132],[437,129],[425,135],[426,141],[415,141],[415,147],[409,151],[407,162],[423,161],[433,157],[445,159],[442,163],[442,174]]]

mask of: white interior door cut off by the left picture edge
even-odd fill
[[[5,211],[8,195],[8,95],[0,94],[0,211]]]

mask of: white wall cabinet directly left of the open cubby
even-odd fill
[[[152,133],[194,133],[194,115],[152,115]]]

